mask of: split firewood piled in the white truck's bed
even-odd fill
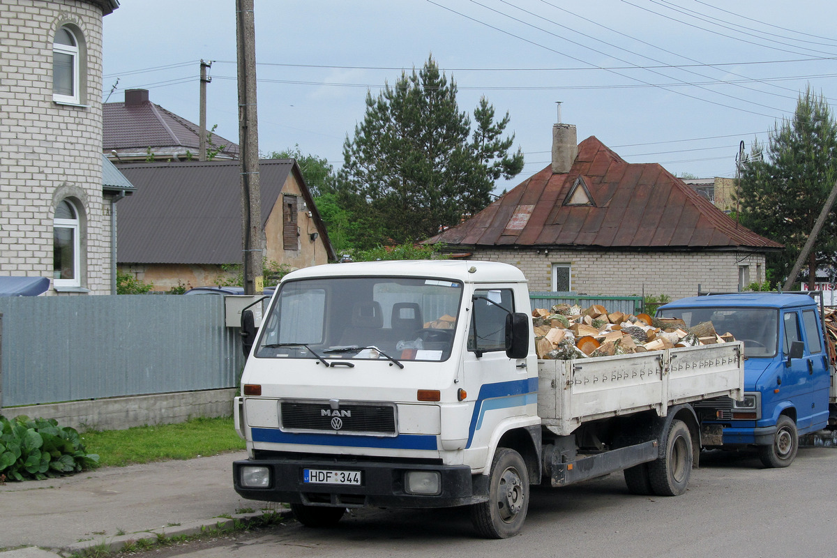
[[[728,332],[718,335],[709,321],[687,328],[677,318],[608,313],[602,305],[584,310],[578,305],[555,305],[549,310],[532,310],[531,315],[537,357],[547,360],[628,355],[735,340]],[[831,332],[837,340],[837,312]]]

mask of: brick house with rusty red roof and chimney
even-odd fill
[[[783,248],[732,220],[656,163],[634,164],[574,125],[553,126],[547,166],[427,242],[520,268],[535,291],[735,291]]]

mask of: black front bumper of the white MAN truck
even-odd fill
[[[264,467],[270,478],[264,488],[243,486],[242,468]],[[305,482],[305,470],[357,471],[360,483],[311,484]],[[439,475],[438,494],[409,494],[405,489],[408,472],[435,472]],[[233,463],[235,491],[243,498],[288,504],[307,504],[359,508],[447,508],[476,504],[488,496],[485,475],[473,475],[466,465],[445,466],[372,461],[336,462],[333,459],[300,458],[244,459]]]

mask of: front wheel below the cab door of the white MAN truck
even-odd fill
[[[486,539],[517,535],[529,509],[529,472],[521,454],[497,448],[488,484],[488,501],[471,505],[475,529]]]

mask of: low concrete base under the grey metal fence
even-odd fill
[[[123,430],[146,424],[186,422],[195,417],[230,417],[237,390],[162,393],[132,397],[112,397],[90,401],[49,403],[4,408],[7,418],[54,418],[59,426],[85,430]]]

